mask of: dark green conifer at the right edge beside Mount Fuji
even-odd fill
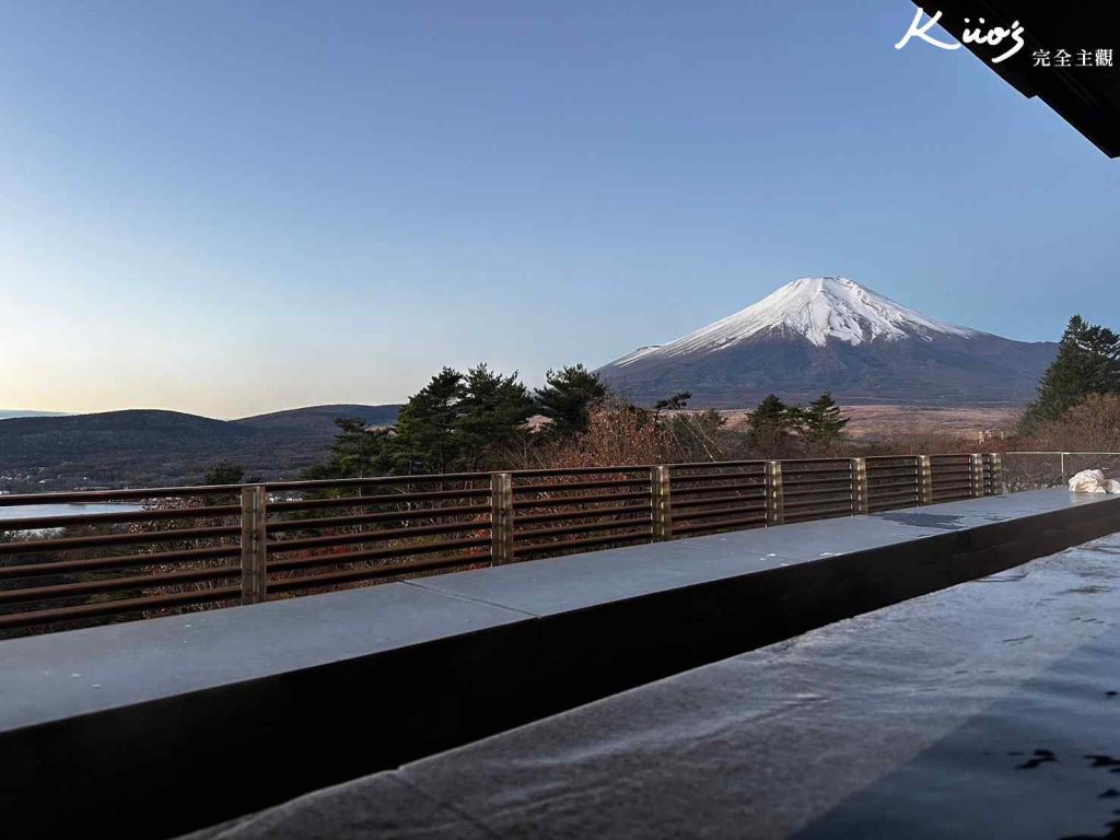
[[[1108,327],[1070,318],[1055,358],[1038,383],[1038,396],[1027,407],[1020,431],[1056,420],[1090,394],[1120,391],[1120,335]]]

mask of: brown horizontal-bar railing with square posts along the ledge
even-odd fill
[[[1002,492],[999,455],[0,495],[0,636]]]

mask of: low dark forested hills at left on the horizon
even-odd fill
[[[129,409],[0,420],[0,489],[197,484],[217,460],[252,479],[291,478],[321,461],[336,418],[396,421],[400,405],[310,405],[239,420]]]

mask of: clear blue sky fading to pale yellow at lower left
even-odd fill
[[[0,4],[0,408],[530,382],[842,273],[1120,323],[1120,162],[904,0]]]

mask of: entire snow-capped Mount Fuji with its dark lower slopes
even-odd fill
[[[679,391],[739,408],[776,393],[840,402],[1023,404],[1057,353],[931,318],[843,277],[794,280],[757,304],[598,370],[637,402]]]

